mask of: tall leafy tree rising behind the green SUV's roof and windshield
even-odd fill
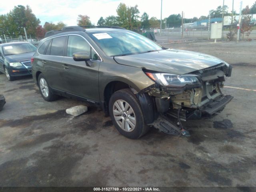
[[[138,5],[134,7],[126,6],[124,3],[120,3],[116,9],[117,20],[120,22],[120,26],[129,30],[139,27],[139,16],[140,11]]]

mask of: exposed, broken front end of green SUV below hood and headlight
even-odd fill
[[[177,134],[178,124],[188,119],[210,118],[221,112],[233,96],[224,95],[224,76],[231,76],[232,67],[221,63],[216,66],[192,72],[198,75],[200,86],[186,86],[182,90],[158,84],[143,90],[154,99],[158,118],[151,124],[168,134]],[[171,119],[176,119],[174,123]],[[182,127],[182,126],[181,126]]]

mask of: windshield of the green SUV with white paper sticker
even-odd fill
[[[148,38],[128,30],[92,32],[90,37],[108,56],[139,54],[162,50]]]

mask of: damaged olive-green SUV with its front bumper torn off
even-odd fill
[[[231,71],[213,56],[166,49],[118,27],[50,31],[32,58],[44,100],[60,95],[101,107],[128,138],[150,125],[184,134],[181,121],[222,111],[233,98],[221,92]]]

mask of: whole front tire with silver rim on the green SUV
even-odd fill
[[[112,94],[109,114],[116,129],[130,139],[140,138],[148,132],[140,104],[130,89],[118,90]]]

